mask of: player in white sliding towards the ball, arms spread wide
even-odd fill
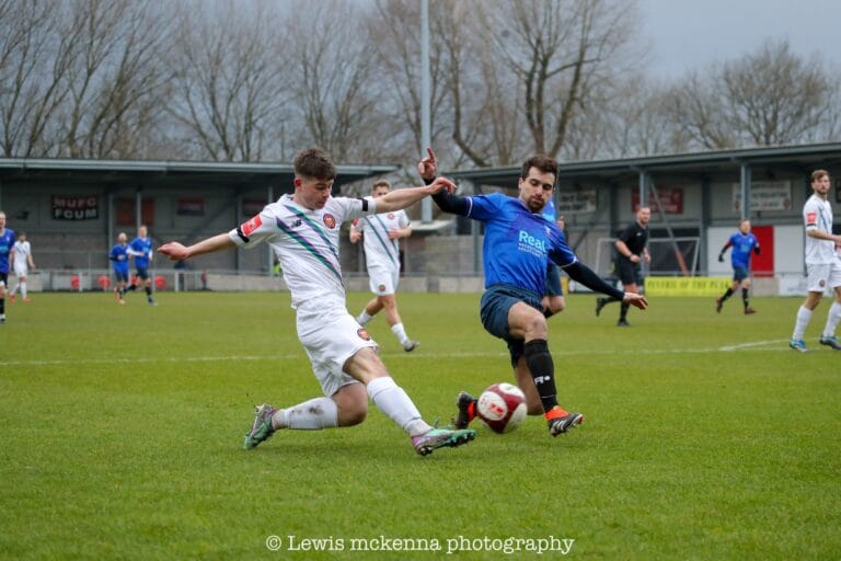
[[[371,197],[332,197],[336,169],[327,152],[309,148],[295,158],[295,194],[283,195],[257,216],[230,232],[188,248],[177,242],[158,251],[183,261],[224,249],[253,248],[267,242],[280,260],[296,310],[298,339],[312,363],[324,397],[285,409],[260,405],[243,447],[251,449],[280,428],[322,430],[361,423],[368,398],[411,437],[425,456],[436,448],[472,440],[475,431],[435,428],[399,387],[377,354],[377,343],[347,311],[338,260],[339,229],[345,220],[405,208],[442,188],[447,179],[424,187]]]

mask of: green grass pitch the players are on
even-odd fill
[[[128,300],[7,302],[0,558],[557,559],[562,539],[569,559],[841,558],[828,301],[799,354],[799,298],[756,298],[748,317],[738,299],[716,314],[712,298],[656,298],[619,329],[617,305],[596,318],[574,295],[550,348],[585,424],[557,438],[538,417],[505,436],[480,426],[422,458],[373,407],[356,427],[241,449],[254,404],[320,394],[287,294]],[[428,421],[449,421],[461,389],[511,380],[477,295],[399,300],[422,346],[403,353],[383,318],[369,331]]]

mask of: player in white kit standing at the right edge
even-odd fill
[[[841,244],[841,236],[832,233],[832,205],[827,201],[830,182],[829,173],[816,170],[811,174],[813,195],[803,206],[803,219],[806,224],[806,272],[808,275],[808,295],[797,310],[794,333],[788,346],[805,353],[808,351],[803,340],[811,312],[815,311],[823,291],[829,287],[834,291],[836,301],[829,308],[827,324],[820,335],[820,344],[841,351],[836,339],[836,328],[841,321],[841,259],[836,253],[836,245]]]

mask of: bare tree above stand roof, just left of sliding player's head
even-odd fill
[[[198,157],[258,161],[280,156],[284,39],[277,13],[266,4],[252,8],[198,1],[185,4],[180,16],[172,57],[176,95],[170,107]]]

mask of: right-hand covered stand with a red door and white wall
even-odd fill
[[[841,144],[724,150],[587,162],[562,162],[555,206],[567,240],[583,261],[610,275],[615,234],[635,219],[640,204],[652,207],[649,275],[728,276],[729,260],[717,261],[741,218],[749,218],[762,254],[753,273],[773,279],[770,291],[799,294],[804,264],[803,205],[810,174],[826,169],[830,202],[841,216]],[[462,194],[504,192],[516,196],[520,167],[449,172]],[[460,220],[479,247],[480,225]],[[836,221],[836,233],[841,219]],[[472,263],[479,271],[481,261]]]

